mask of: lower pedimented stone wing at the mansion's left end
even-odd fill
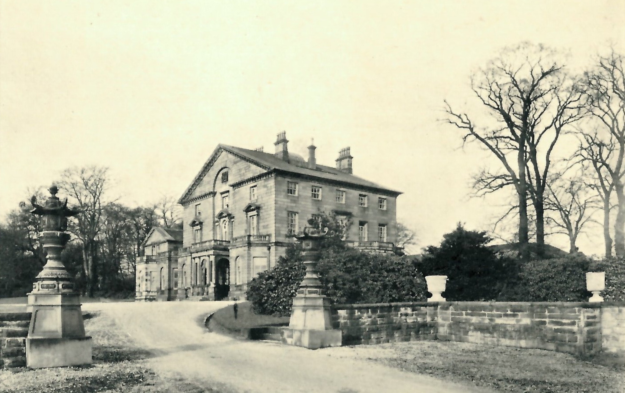
[[[144,255],[136,261],[137,300],[168,301],[178,297],[178,250],[182,237],[181,231],[159,227],[146,236],[141,244]]]

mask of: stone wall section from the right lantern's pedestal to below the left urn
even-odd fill
[[[332,322],[343,345],[436,339],[436,304],[341,304]]]

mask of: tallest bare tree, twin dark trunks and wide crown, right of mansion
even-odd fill
[[[536,242],[544,244],[544,194],[551,156],[564,128],[584,116],[576,82],[554,58],[553,51],[524,43],[504,50],[474,74],[472,90],[491,119],[484,120],[484,126],[445,102],[446,121],[465,132],[463,142],[479,142],[501,164],[476,177],[476,194],[514,187],[521,245],[529,242],[529,202],[536,214]]]

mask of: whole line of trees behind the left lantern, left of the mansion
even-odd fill
[[[178,205],[163,196],[149,206],[129,207],[111,196],[108,168],[73,167],[55,182],[59,197],[81,212],[70,217],[72,237],[61,258],[86,296],[131,296],[136,257],[155,226],[180,227]],[[39,203],[49,196],[44,187],[29,192]],[[24,296],[46,262],[37,240],[39,217],[20,202],[0,224],[0,297]]]

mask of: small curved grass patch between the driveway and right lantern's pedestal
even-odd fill
[[[274,317],[254,314],[250,302],[237,304],[237,317],[234,318],[234,306],[227,306],[216,311],[211,318],[209,327],[217,331],[235,336],[241,335],[242,331],[251,327],[280,326],[289,324],[289,317]]]

